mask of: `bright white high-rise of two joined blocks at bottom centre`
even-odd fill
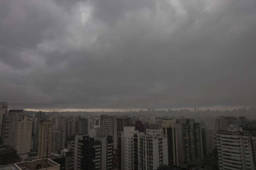
[[[147,129],[146,134],[135,131],[135,127],[124,127],[121,135],[121,161],[118,165],[122,170],[152,169],[168,165],[167,136],[162,129]],[[120,146],[120,145],[119,145]],[[120,151],[119,151],[120,152]]]

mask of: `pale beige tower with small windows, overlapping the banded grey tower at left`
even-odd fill
[[[16,150],[22,159],[28,157],[28,153],[31,149],[31,134],[32,134],[32,120],[27,116],[23,116],[21,120],[17,122],[16,133]]]

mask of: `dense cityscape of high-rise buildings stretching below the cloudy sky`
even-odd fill
[[[255,169],[255,113],[254,107],[42,112],[1,102],[0,168]]]

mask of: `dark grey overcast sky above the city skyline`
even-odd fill
[[[255,0],[1,0],[9,108],[256,103]]]

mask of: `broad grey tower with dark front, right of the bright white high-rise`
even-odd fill
[[[174,165],[189,167],[203,159],[201,124],[193,119],[178,119],[173,127]]]

